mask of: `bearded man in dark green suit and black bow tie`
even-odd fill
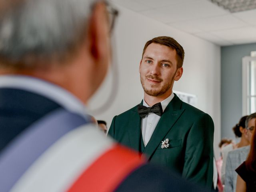
[[[182,102],[172,92],[183,73],[184,50],[171,37],[146,42],[140,61],[142,102],[115,116],[108,135],[178,172],[193,182],[212,186],[212,118]]]

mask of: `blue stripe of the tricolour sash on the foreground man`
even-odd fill
[[[88,120],[58,109],[28,127],[0,154],[0,191],[7,192],[59,138]]]

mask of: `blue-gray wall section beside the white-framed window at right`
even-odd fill
[[[221,137],[233,138],[232,127],[242,116],[242,58],[256,43],[221,48]]]

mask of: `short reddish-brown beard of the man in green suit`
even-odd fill
[[[167,82],[166,84],[164,84],[162,86],[162,88],[160,90],[157,89],[147,89],[146,86],[144,85],[144,81],[146,80],[146,78],[150,78],[150,79],[154,79],[157,81],[162,82],[161,78],[158,78],[157,76],[153,76],[153,75],[147,75],[144,79],[142,78],[142,76],[140,76],[140,82],[142,85],[142,88],[144,89],[144,92],[150,96],[161,96],[162,94],[165,94],[171,87],[172,87],[172,83],[174,81],[174,76],[172,77],[172,80],[170,82]]]

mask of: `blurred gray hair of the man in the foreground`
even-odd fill
[[[11,6],[0,15],[0,61],[30,68],[37,63],[26,57],[61,58],[83,38],[94,1],[23,0]]]

